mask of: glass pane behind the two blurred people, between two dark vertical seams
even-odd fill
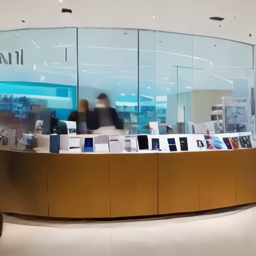
[[[138,115],[137,45],[137,30],[78,28],[78,98],[94,108],[96,97],[105,93],[124,129],[133,134]]]

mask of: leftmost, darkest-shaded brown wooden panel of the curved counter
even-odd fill
[[[48,154],[0,150],[0,209],[48,215]]]

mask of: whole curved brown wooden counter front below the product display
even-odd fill
[[[256,148],[50,154],[0,150],[0,210],[121,217],[256,202]]]

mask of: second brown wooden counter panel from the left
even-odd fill
[[[109,154],[53,156],[48,174],[49,216],[110,217]]]

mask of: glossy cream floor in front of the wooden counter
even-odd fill
[[[256,255],[256,207],[139,221],[5,221],[0,256]]]

